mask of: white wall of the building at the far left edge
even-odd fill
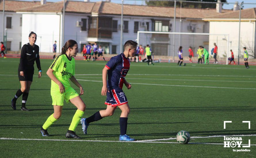
[[[6,28],[6,17],[12,17],[12,28]],[[5,12],[5,21],[4,21],[4,35],[7,31],[7,41],[11,41],[11,51],[18,51],[20,49],[21,42],[21,26],[20,26],[20,18],[21,14],[17,14],[15,12]],[[0,39],[3,41],[3,12],[0,14]],[[6,46],[5,46],[6,47]]]

